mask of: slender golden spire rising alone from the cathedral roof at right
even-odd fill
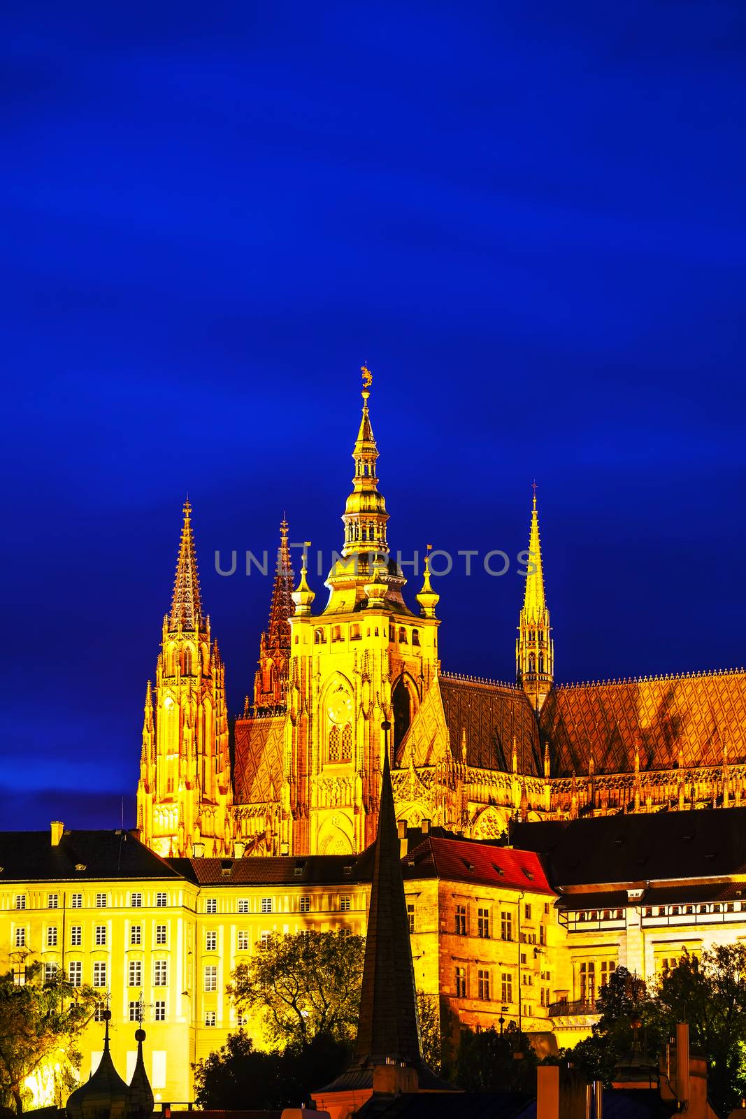
[[[526,590],[516,642],[516,678],[539,712],[551,689],[555,671],[555,642],[550,637],[549,611],[544,592],[544,566],[536,507],[536,482],[529,529]]]

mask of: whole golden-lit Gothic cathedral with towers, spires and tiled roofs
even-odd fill
[[[138,827],[160,855],[360,852],[389,752],[397,818],[472,838],[511,820],[746,805],[746,675],[557,684],[533,495],[516,681],[445,673],[427,562],[408,604],[363,369],[341,554],[320,609],[280,529],[253,703],[229,726],[189,502],[149,681]],[[315,606],[315,609],[314,609]],[[427,821],[427,822],[425,822]]]

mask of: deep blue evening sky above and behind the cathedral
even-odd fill
[[[341,544],[366,359],[394,547],[514,553],[536,477],[560,679],[743,662],[742,0],[30,2],[0,44],[0,826],[133,821],[187,490],[240,706],[270,586],[215,549]],[[510,678],[517,575],[438,590],[444,666]]]

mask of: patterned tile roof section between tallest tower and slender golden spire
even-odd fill
[[[510,772],[514,737],[519,773],[541,773],[538,727],[522,688],[450,674],[441,675],[438,683],[456,760],[465,731],[470,765]]]

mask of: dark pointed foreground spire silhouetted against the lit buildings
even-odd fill
[[[386,751],[353,1066],[370,1068],[391,1061],[419,1068],[422,1043]]]

